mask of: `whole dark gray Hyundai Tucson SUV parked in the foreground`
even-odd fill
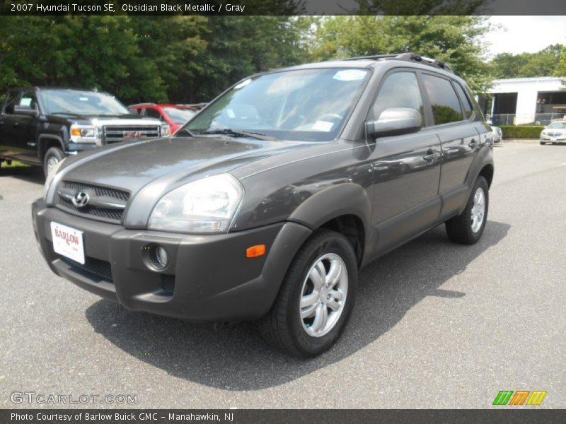
[[[492,131],[466,83],[416,54],[250,76],[175,136],[59,163],[33,204],[54,273],[130,310],[257,320],[292,355],[326,351],[359,269],[440,223],[487,220]]]

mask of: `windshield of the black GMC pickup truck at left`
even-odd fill
[[[118,100],[106,93],[83,90],[40,90],[47,114],[115,115],[129,113]]]

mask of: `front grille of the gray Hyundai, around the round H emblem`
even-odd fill
[[[75,206],[72,201],[72,196],[79,192],[85,192],[90,197],[89,203],[81,208]],[[59,195],[56,205],[58,208],[75,215],[105,220],[110,223],[122,222],[125,205],[129,200],[129,192],[125,190],[72,181],[64,181],[57,188],[57,194]]]

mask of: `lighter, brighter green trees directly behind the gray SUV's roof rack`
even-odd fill
[[[474,93],[489,86],[480,16],[335,16],[320,18],[314,59],[415,52],[449,63]]]

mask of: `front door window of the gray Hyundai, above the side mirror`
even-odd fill
[[[424,122],[424,108],[417,76],[413,72],[395,72],[388,76],[374,103],[374,119],[390,107],[408,107],[418,110]]]

